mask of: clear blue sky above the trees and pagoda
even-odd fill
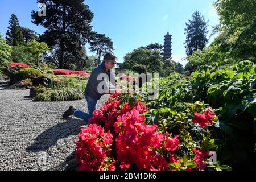
[[[218,15],[211,6],[213,0],[85,0],[94,13],[93,31],[106,34],[114,42],[114,53],[118,62],[134,49],[150,43],[163,44],[167,27],[172,35],[172,57],[180,61],[185,57],[185,22],[199,10],[206,20],[208,29],[218,23]],[[18,16],[20,26],[43,33],[44,27],[31,22],[31,11],[38,10],[36,0],[1,0],[0,34],[5,36],[12,13]],[[210,35],[210,32],[209,32]],[[213,38],[210,38],[212,42]],[[89,47],[86,44],[86,47]],[[87,49],[88,55],[90,53]]]

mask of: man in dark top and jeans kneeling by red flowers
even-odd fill
[[[89,118],[93,116],[93,111],[97,109],[97,101],[100,100],[101,96],[107,93],[114,93],[116,90],[115,86],[108,85],[108,81],[115,85],[116,80],[111,69],[116,64],[116,61],[117,56],[113,53],[106,53],[102,63],[93,69],[84,91],[88,113],[80,111],[74,106],[70,106],[63,114],[63,118],[75,115],[75,117],[88,122]]]

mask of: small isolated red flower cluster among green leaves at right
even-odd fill
[[[195,118],[192,119],[192,122],[199,124],[200,127],[212,125],[213,119],[216,117],[216,114],[213,111],[211,111],[209,107],[207,110],[205,110],[204,114],[194,113],[194,115]]]

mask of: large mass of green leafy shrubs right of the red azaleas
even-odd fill
[[[233,169],[253,169],[256,159],[256,65],[240,61],[233,65],[201,65],[189,80],[177,73],[160,78],[159,97],[148,103],[147,123],[156,123],[158,130],[180,134],[184,155],[191,147],[217,151],[221,163]],[[206,104],[208,103],[208,104]],[[215,127],[193,125],[193,113],[215,109]],[[182,132],[181,132],[182,131]],[[191,138],[197,138],[192,142]],[[195,140],[193,140],[195,141]],[[197,148],[196,147],[196,148]],[[229,170],[220,163],[209,169]]]

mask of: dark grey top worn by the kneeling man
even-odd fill
[[[84,90],[85,96],[99,100],[105,91],[109,88],[108,81],[115,85],[115,77],[111,70],[106,70],[104,63],[101,63],[93,69],[88,83]]]

